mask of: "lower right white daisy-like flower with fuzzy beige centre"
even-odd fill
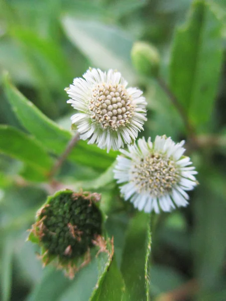
[[[123,183],[120,190],[125,200],[147,213],[187,206],[186,191],[197,185],[197,172],[190,167],[190,158],[183,156],[183,144],[164,135],[156,136],[153,143],[150,137],[147,142],[144,137],[138,139],[138,146],[129,145],[129,151],[120,149],[126,157],[118,156],[114,174],[117,183]]]

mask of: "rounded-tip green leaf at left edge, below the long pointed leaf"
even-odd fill
[[[46,173],[52,160],[35,138],[8,125],[0,126],[0,152]]]

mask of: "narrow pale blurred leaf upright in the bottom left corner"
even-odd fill
[[[12,284],[12,260],[13,260],[13,242],[9,236],[5,239],[2,254],[2,300],[9,301],[11,297]]]

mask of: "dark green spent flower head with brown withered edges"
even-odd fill
[[[97,193],[71,190],[59,191],[47,198],[37,212],[28,237],[41,247],[44,266],[56,259],[58,267],[73,278],[74,273],[90,261],[90,248],[104,241],[99,200]]]

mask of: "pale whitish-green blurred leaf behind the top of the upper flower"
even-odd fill
[[[102,69],[118,69],[129,80],[134,80],[130,61],[133,41],[115,26],[94,21],[81,21],[70,16],[62,20],[70,41],[92,62]]]

